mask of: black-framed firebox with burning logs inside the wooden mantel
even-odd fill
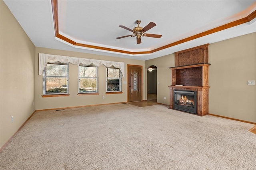
[[[196,91],[174,90],[173,100],[173,109],[196,114]]]

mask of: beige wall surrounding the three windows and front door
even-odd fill
[[[42,97],[42,75],[38,75],[38,56],[39,53],[47,53],[54,55],[64,55],[70,57],[81,57],[88,59],[100,59],[106,61],[118,61],[124,62],[125,64],[125,77],[122,78],[122,94],[108,94],[106,95],[106,67],[103,65],[99,67],[99,95],[77,95],[78,94],[78,65],[70,64],[69,72],[69,96],[65,97]],[[103,55],[93,55],[72,51],[64,51],[57,49],[48,49],[36,47],[36,110],[42,109],[56,109],[63,107],[77,107],[77,106],[86,106],[86,105],[98,105],[98,104],[107,104],[107,103],[119,103],[127,102],[127,64],[129,65],[142,65],[144,68],[144,61],[134,60],[134,59],[124,59],[119,57],[108,57]],[[143,72],[143,100],[145,99],[145,72]],[[102,99],[103,96],[105,99]]]

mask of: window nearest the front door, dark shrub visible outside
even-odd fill
[[[121,87],[121,71],[116,67],[106,68],[107,76],[106,76],[106,89],[107,92],[117,92],[122,91]]]

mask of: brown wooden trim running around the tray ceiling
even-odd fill
[[[156,49],[152,49],[151,51],[138,51],[138,52],[132,52],[132,51],[125,51],[125,50],[120,50],[120,49],[113,49],[113,48],[107,48],[107,47],[100,47],[100,46],[96,46],[96,45],[88,45],[88,44],[83,44],[83,43],[76,43],[73,40],[70,40],[69,38],[66,38],[65,36],[62,36],[61,34],[59,34],[59,26],[58,26],[58,0],[52,0],[52,14],[53,14],[53,21],[54,21],[54,30],[55,30],[55,36],[57,38],[60,38],[61,40],[64,40],[68,43],[71,43],[72,45],[77,45],[80,47],[88,47],[88,48],[94,48],[94,49],[100,49],[100,50],[105,50],[105,51],[113,51],[113,52],[118,52],[118,53],[126,53],[126,54],[131,54],[131,55],[137,55],[137,54],[149,54],[149,53],[154,53],[156,51],[160,51],[169,47],[173,47],[175,45],[184,43],[184,42],[188,42],[191,40],[195,40],[197,38],[201,38],[203,36],[207,36],[209,34],[213,34],[215,32],[219,32],[222,30],[226,30],[228,28],[232,28],[234,26],[238,26],[240,24],[244,24],[246,22],[250,22],[251,20],[253,20],[254,18],[256,18],[256,10],[254,10],[254,12],[252,12],[251,14],[249,14],[248,16],[236,20],[234,22],[230,22],[228,24],[224,24],[222,26],[213,28],[211,30],[207,30],[205,32],[196,34],[194,36],[190,36],[188,38],[184,38],[182,40],[173,42],[173,43],[169,43],[167,45],[164,45],[162,47],[158,47]]]

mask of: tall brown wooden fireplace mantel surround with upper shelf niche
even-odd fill
[[[196,91],[196,114],[208,115],[208,45],[178,51],[175,53],[175,67],[172,71],[172,85],[170,88],[170,109],[174,108],[173,91]],[[177,86],[182,85],[182,86]]]

